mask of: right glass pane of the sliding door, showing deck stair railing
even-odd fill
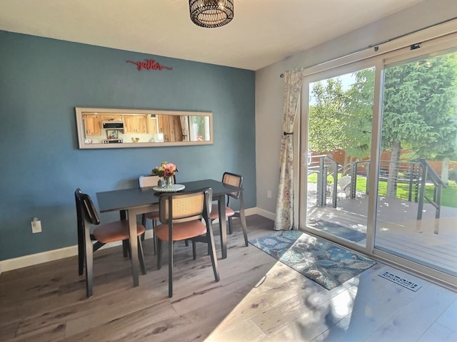
[[[457,276],[457,53],[387,64],[376,249]]]

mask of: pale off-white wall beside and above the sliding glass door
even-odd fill
[[[256,71],[257,207],[276,211],[282,135],[283,78],[292,68],[314,66],[368,46],[457,17],[456,0],[427,0],[351,33]],[[350,20],[350,19],[348,19]],[[310,34],[318,34],[310,32]],[[271,198],[267,191],[271,190]]]

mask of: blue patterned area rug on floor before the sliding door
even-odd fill
[[[281,230],[249,242],[328,290],[376,264],[361,254],[297,230]]]

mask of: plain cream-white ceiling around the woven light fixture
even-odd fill
[[[258,70],[424,0],[234,0],[201,28],[187,0],[1,0],[0,30]]]

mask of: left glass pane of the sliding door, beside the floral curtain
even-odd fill
[[[375,68],[336,73],[305,85],[306,227],[365,246]]]

